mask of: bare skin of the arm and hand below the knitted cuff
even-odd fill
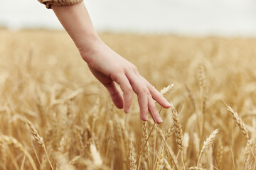
[[[78,47],[92,74],[106,87],[117,108],[129,113],[133,91],[137,94],[140,117],[148,120],[148,112],[156,123],[162,123],[154,100],[164,108],[171,105],[154,86],[139,74],[137,67],[118,55],[97,35],[84,3],[73,6],[51,6],[60,23]],[[119,84],[122,94],[117,89]]]

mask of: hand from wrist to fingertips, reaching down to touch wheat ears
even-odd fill
[[[88,46],[90,46],[89,50]],[[151,116],[154,114],[152,118],[156,119],[156,123],[163,122],[154,100],[164,108],[169,108],[170,103],[139,74],[137,67],[107,47],[100,39],[85,48],[80,47],[79,50],[92,74],[110,92],[112,101],[117,108],[124,108],[124,112],[129,113],[132,104],[132,91],[134,91],[138,96],[141,119],[148,120],[149,111]],[[123,96],[114,82],[119,84]]]

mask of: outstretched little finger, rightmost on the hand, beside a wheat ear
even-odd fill
[[[144,77],[142,77],[142,79],[144,79]],[[144,81],[150,91],[150,94],[152,95],[152,98],[154,98],[154,100],[164,108],[169,108],[171,104],[166,100],[166,98],[164,98],[164,96],[162,96],[160,92],[149,83],[149,81],[146,81],[146,79],[144,79]]]

